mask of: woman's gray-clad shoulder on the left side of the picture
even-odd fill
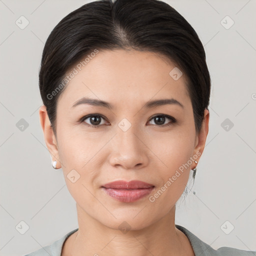
[[[61,249],[63,246],[64,241],[67,239],[68,236],[70,236],[72,233],[77,231],[78,228],[73,229],[72,231],[68,232],[64,236],[62,236],[60,239],[54,241],[52,244],[46,245],[38,250],[35,250],[33,252],[30,252],[24,256],[60,256],[61,255]]]

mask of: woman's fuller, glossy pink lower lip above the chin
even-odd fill
[[[154,187],[148,188],[138,188],[138,189],[114,189],[114,188],[105,188],[103,190],[114,199],[121,202],[134,202],[140,198],[149,194]]]

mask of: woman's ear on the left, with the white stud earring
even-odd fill
[[[50,125],[50,120],[45,105],[42,105],[39,108],[39,118],[43,131],[44,140],[51,155],[51,159],[52,161],[57,161],[56,168],[60,168],[61,165],[58,155],[57,140]]]

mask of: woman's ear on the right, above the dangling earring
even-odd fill
[[[193,155],[198,155],[197,157],[197,161],[199,160],[204,146],[205,146],[205,141],[207,138],[207,134],[208,134],[208,130],[209,130],[209,110],[204,109],[204,116],[203,116],[203,121],[202,121],[202,126],[201,129],[199,131],[199,133],[197,134],[196,137],[196,142],[195,142],[195,147],[193,150]],[[196,164],[195,164],[196,166]],[[195,166],[193,168],[195,168]]]

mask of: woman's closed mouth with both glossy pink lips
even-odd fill
[[[149,194],[154,185],[140,180],[116,180],[101,186],[103,191],[115,200],[134,202]]]

